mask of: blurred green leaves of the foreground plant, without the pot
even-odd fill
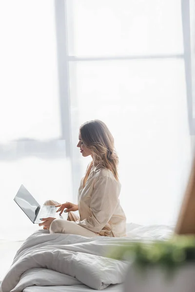
[[[133,261],[138,267],[161,266],[168,270],[195,262],[195,237],[174,236],[168,241],[132,242],[116,248],[109,257]]]

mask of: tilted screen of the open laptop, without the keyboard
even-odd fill
[[[20,186],[20,189],[14,198],[14,201],[19,205],[19,207],[24,211],[29,219],[34,223],[36,216],[39,212],[40,205],[29,193],[29,191],[23,186]]]

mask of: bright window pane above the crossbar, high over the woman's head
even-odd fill
[[[69,55],[182,54],[180,0],[67,0]]]

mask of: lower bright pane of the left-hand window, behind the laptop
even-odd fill
[[[42,157],[24,156],[0,161],[0,176],[3,178],[0,183],[0,194],[4,203],[0,220],[1,222],[6,220],[6,224],[0,225],[0,238],[21,240],[35,229],[39,229],[39,226],[33,224],[14,201],[20,184],[30,191],[40,205],[46,200],[61,203],[73,201],[71,161],[66,158],[64,141],[60,144],[60,149],[54,148],[50,156],[47,153]]]

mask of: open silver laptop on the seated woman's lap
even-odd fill
[[[40,206],[29,191],[21,184],[14,201],[33,223],[41,223],[41,218],[55,217],[58,207]]]

